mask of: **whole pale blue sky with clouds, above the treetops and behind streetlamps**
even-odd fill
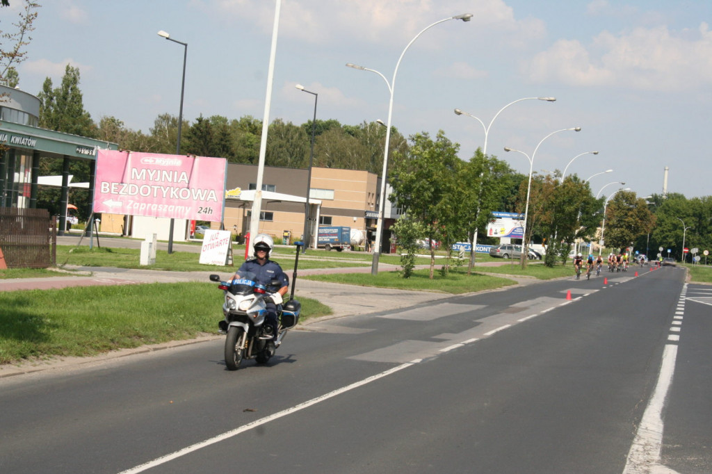
[[[149,132],[157,115],[178,114],[183,48],[188,43],[184,118],[263,118],[276,0],[53,0],[39,9],[20,86],[38,93],[46,77],[80,68],[85,109]],[[3,28],[14,21],[0,11]],[[318,118],[357,125],[386,120],[404,135],[444,130],[468,159],[484,142],[489,154],[528,173],[563,170],[604,185],[625,181],[639,196],[668,191],[712,195],[712,2],[709,0],[282,0],[270,120]],[[611,185],[603,195],[621,186]]]

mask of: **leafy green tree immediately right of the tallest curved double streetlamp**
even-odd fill
[[[457,176],[463,167],[453,144],[441,130],[436,139],[424,132],[413,135],[407,154],[394,154],[391,171],[392,202],[420,221],[430,241],[450,241],[459,235],[461,198]],[[435,251],[430,249],[430,278]]]

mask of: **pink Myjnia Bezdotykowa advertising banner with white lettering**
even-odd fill
[[[94,212],[222,221],[226,159],[100,149]]]

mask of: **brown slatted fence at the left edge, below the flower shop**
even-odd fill
[[[8,268],[57,263],[57,222],[47,209],[0,208],[0,251]]]

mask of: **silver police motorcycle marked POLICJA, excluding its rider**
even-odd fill
[[[220,275],[210,275],[210,280],[218,282],[218,288],[224,291],[222,310],[225,319],[218,323],[218,332],[226,335],[225,364],[229,370],[238,369],[243,359],[256,359],[259,364],[269,362],[288,330],[299,322],[301,304],[294,299],[299,248],[300,243],[297,244],[290,300],[277,305],[278,334],[274,344],[269,344],[273,341],[273,327],[265,324],[266,303],[278,290],[279,280],[272,280],[266,288],[256,282],[252,272],[238,272],[237,278],[228,281],[222,281]],[[278,295],[274,297],[279,300]]]

